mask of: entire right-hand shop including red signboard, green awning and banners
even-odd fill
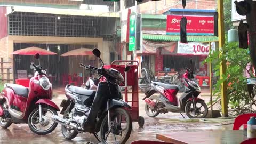
[[[158,77],[193,70],[200,85],[208,85],[210,70],[204,59],[211,49],[215,50],[214,10],[205,15],[186,15],[187,43],[180,43],[179,15],[142,15],[141,68],[147,68]]]

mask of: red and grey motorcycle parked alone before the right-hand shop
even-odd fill
[[[198,98],[201,89],[198,84],[183,78],[187,89],[177,97],[179,87],[160,82],[151,83],[151,90],[146,92],[145,111],[149,117],[156,117],[160,113],[186,113],[189,118],[204,118],[208,107],[204,100]],[[153,95],[159,93],[160,95]],[[182,115],[182,114],[181,114]],[[183,116],[183,115],[182,115]],[[184,117],[185,118],[185,117]]]

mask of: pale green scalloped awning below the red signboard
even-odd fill
[[[179,35],[142,34],[143,39],[151,41],[180,41]],[[216,36],[187,36],[188,42],[218,41]]]

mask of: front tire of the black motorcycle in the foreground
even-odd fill
[[[126,129],[125,129],[126,133],[125,133],[124,137],[121,139],[121,141],[116,142],[116,143],[119,143],[119,144],[124,144],[129,139],[131,131],[132,131],[132,118],[131,118],[131,115],[128,113],[127,110],[125,110],[123,108],[115,108],[115,109],[111,110],[111,116],[113,116],[113,114],[114,114],[114,116],[116,114],[122,114],[121,116],[123,116],[123,118],[126,119],[126,123],[127,123]],[[105,140],[105,134],[106,134],[105,131],[106,130],[108,130],[108,115],[105,116],[105,118],[103,119],[103,121],[101,123],[101,126],[100,126],[101,143],[104,143],[104,144],[108,144],[108,142]],[[111,131],[114,131],[114,130],[111,130]],[[109,134],[110,133],[113,134],[112,132],[109,132]]]

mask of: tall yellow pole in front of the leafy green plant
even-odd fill
[[[223,13],[223,0],[218,0],[218,31],[219,31],[219,50],[223,49],[225,45],[225,33],[224,33],[224,13]],[[219,57],[221,57],[222,52],[220,51]],[[226,60],[220,62],[220,79],[222,79],[222,74],[226,74]],[[221,111],[222,117],[228,116],[228,99],[227,99],[227,82],[224,81],[220,86],[221,90]]]

